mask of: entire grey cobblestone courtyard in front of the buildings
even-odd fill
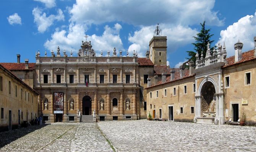
[[[40,127],[0,133],[0,151],[256,151],[255,127],[148,120]]]

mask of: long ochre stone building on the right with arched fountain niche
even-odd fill
[[[254,37],[256,42],[256,37]],[[147,114],[153,118],[197,123],[256,121],[256,48],[242,53],[243,43],[234,44],[235,56],[228,57],[225,43],[206,57],[196,54],[196,65],[171,69],[171,75],[147,87]]]

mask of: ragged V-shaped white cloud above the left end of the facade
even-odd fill
[[[37,25],[37,30],[40,33],[44,33],[55,20],[57,21],[64,21],[64,15],[61,9],[58,9],[57,15],[49,15],[46,16],[46,13],[43,13],[42,10],[38,7],[34,8],[32,11],[34,16],[34,23]]]

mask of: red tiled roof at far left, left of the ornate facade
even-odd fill
[[[25,63],[0,63],[8,70],[34,70],[36,63],[28,63],[28,69],[25,69]]]

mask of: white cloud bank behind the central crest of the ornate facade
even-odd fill
[[[96,51],[97,56],[100,55],[101,50],[104,52],[104,55],[107,55],[108,50],[112,54],[113,47],[116,47],[117,54],[120,50],[124,52],[123,43],[119,36],[121,28],[122,26],[118,23],[113,28],[106,25],[102,35],[93,34],[87,38],[87,41],[91,40],[92,48]],[[68,31],[58,31],[57,28],[55,33],[52,34],[51,40],[47,40],[44,46],[53,51],[56,51],[57,47],[60,46],[62,51],[64,49],[66,52],[73,50],[73,55],[76,55],[78,49],[81,48],[81,41],[84,40],[85,29],[86,27],[81,24],[70,24]]]

